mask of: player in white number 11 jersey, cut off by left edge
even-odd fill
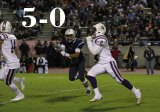
[[[1,52],[6,60],[5,65],[0,70],[0,79],[3,80],[6,85],[8,85],[11,90],[16,93],[16,97],[11,99],[11,101],[18,101],[24,98],[24,95],[15,85],[14,81],[19,82],[24,87],[23,80],[16,78],[16,69],[20,68],[20,62],[16,55],[16,41],[17,38],[11,34],[12,25],[9,21],[3,21],[0,24],[0,42],[1,42]]]

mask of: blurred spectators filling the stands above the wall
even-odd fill
[[[106,35],[113,41],[139,42],[141,37],[150,41],[160,40],[160,1],[159,0],[3,0],[15,13],[17,22],[23,20],[23,9],[35,7],[32,13],[37,20],[44,12],[61,7],[66,14],[62,28],[53,28],[52,39],[64,38],[67,28],[74,28],[81,38],[90,35],[90,28],[96,22],[103,22],[107,27]],[[46,7],[47,6],[47,7]],[[58,22],[58,21],[57,21]],[[86,31],[83,31],[86,28]],[[43,24],[24,28],[16,24],[15,34],[18,38],[36,36],[42,33]]]

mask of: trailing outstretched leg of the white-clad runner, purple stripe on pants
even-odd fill
[[[115,61],[111,61],[105,66],[106,71],[120,84],[131,90],[137,98],[137,104],[141,101],[141,92],[139,89],[136,89],[128,80],[124,79],[117,67]]]

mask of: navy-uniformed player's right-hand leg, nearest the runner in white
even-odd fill
[[[85,58],[79,63],[78,65],[78,74],[79,74],[79,79],[82,82],[83,86],[87,90],[87,94],[91,93],[91,88],[88,85],[88,80],[85,78]]]

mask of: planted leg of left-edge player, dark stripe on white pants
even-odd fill
[[[15,69],[6,69],[6,73],[6,85],[8,85],[11,88],[11,90],[16,93],[16,97],[12,99],[12,101],[22,100],[24,98],[24,95],[12,81],[15,76]]]

